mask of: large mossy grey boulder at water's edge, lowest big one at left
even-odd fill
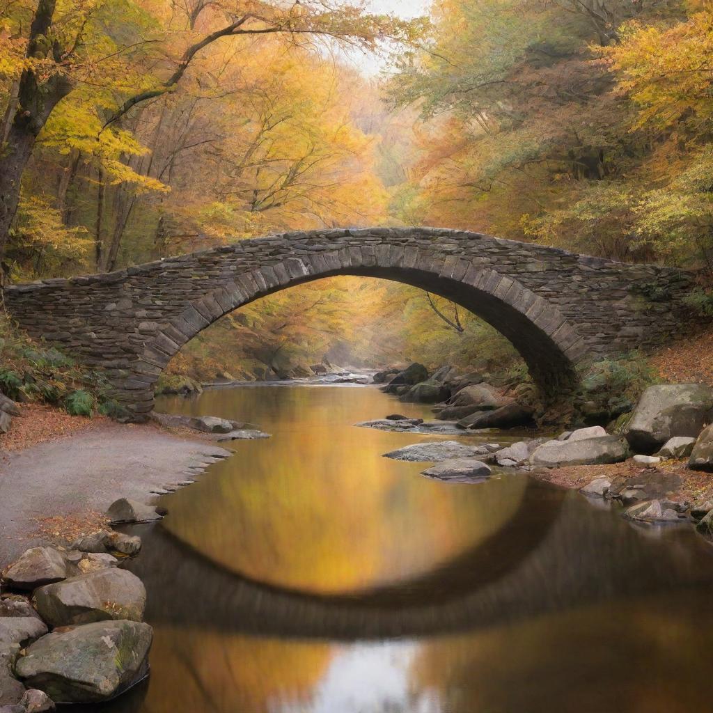
[[[34,642],[15,671],[57,703],[101,702],[145,676],[152,637],[148,624],[128,620],[71,627]]]

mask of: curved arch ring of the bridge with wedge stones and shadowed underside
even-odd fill
[[[235,272],[145,341],[134,369],[140,379],[116,384],[117,395],[135,416],[153,409],[155,381],[170,359],[217,319],[260,297],[337,275],[380,277],[447,297],[509,339],[545,393],[558,396],[577,384],[576,366],[585,354],[582,336],[558,307],[513,277],[481,265],[477,257],[443,257],[421,248],[376,245],[315,251],[270,263]]]

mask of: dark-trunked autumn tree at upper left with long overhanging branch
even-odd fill
[[[116,11],[123,21],[111,24]],[[3,14],[9,41],[0,70],[11,88],[0,154],[0,257],[36,140],[71,93],[97,89],[97,113],[106,130],[133,107],[172,92],[195,59],[223,39],[274,35],[291,45],[324,40],[373,51],[385,40],[414,41],[421,29],[368,14],[363,4],[321,2],[198,1],[181,8],[132,0],[39,0],[8,4]]]

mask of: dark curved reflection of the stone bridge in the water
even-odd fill
[[[334,640],[460,632],[713,583],[707,550],[693,547],[687,530],[642,542],[625,521],[582,508],[579,497],[532,481],[515,516],[476,548],[409,582],[355,595],[240,578],[160,527],[132,569],[147,584],[147,619],[156,625]]]

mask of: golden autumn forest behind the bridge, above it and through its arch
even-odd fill
[[[435,0],[411,20],[366,2],[0,0],[2,274],[434,225],[695,267],[692,307],[713,314],[712,29],[711,6],[679,0]],[[170,372],[324,358],[521,369],[445,299],[333,278],[226,317]]]

